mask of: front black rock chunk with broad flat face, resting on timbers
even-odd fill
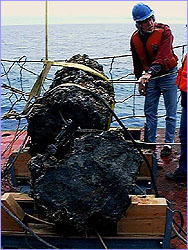
[[[64,231],[107,230],[124,215],[141,158],[120,132],[74,140],[63,159],[37,155],[29,163],[39,210]]]

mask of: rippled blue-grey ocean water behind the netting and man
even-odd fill
[[[170,24],[174,35],[174,47],[187,44],[187,29],[184,24]],[[65,60],[76,54],[87,54],[90,58],[113,57],[118,55],[128,55],[126,57],[115,58],[112,63],[110,59],[97,59],[103,65],[104,73],[112,79],[118,79],[133,72],[132,58],[130,52],[130,37],[134,32],[134,24],[59,24],[48,25],[48,57],[50,60]],[[187,48],[185,47],[185,50]],[[182,60],[182,47],[174,49]],[[18,60],[23,57],[25,62],[15,63],[2,61],[1,84],[7,84],[14,88],[29,92],[40,74],[43,64],[31,63],[29,61],[40,61],[45,58],[45,29],[43,25],[19,25],[2,26],[1,29],[1,59]],[[112,66],[112,70],[111,69]],[[23,69],[24,68],[24,69]],[[47,80],[45,80],[45,90],[51,84],[54,73],[59,67],[52,67]],[[5,75],[5,72],[8,74]],[[125,79],[134,79],[133,75]],[[138,94],[135,84],[123,85],[115,84],[116,101],[121,101]],[[43,91],[45,91],[43,90]],[[1,115],[6,113],[13,105],[13,109],[21,112],[25,101],[16,99],[18,96],[2,88],[1,89]],[[14,106],[14,103],[16,105]],[[115,112],[119,118],[123,119],[126,127],[143,127],[145,118],[132,118],[131,116],[142,116],[144,107],[144,97],[129,98],[124,103],[117,103]],[[181,110],[180,102],[178,110]],[[165,115],[164,102],[161,97],[159,104],[159,115]],[[180,114],[177,118],[179,127]],[[13,130],[18,121],[14,119],[2,120],[2,130]],[[22,119],[21,126],[26,124],[26,119]],[[117,122],[112,124],[118,125]],[[160,118],[159,127],[165,127],[165,118]]]

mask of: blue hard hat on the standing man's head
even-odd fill
[[[145,19],[153,16],[154,11],[144,3],[138,3],[133,7],[132,15],[136,22],[144,21]]]

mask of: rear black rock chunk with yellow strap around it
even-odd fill
[[[73,56],[67,62],[81,63],[103,74],[103,67],[87,55]],[[103,78],[74,67],[58,70],[49,91],[35,102],[27,117],[30,151],[45,153],[47,145],[55,143],[54,138],[69,119],[82,129],[106,130],[111,113],[96,95],[110,107],[114,103],[113,86]]]

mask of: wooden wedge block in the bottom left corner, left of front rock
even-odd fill
[[[5,193],[1,196],[1,202],[16,216],[23,221],[25,213],[13,196]],[[19,225],[3,208],[1,208],[1,230],[2,231],[23,231]]]

